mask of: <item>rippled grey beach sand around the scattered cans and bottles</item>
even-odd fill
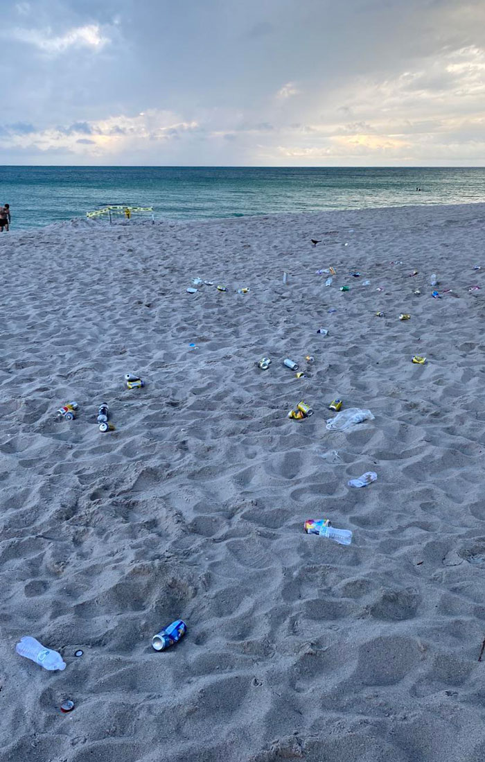
[[[483,762],[484,239],[482,204],[0,235],[1,762]],[[375,419],[327,431],[337,396]]]

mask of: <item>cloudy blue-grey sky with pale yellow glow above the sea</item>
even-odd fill
[[[0,164],[485,166],[484,0],[2,4]]]

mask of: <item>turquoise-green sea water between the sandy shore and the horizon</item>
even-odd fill
[[[477,201],[485,201],[485,168],[0,167],[13,229],[107,203],[201,219]]]

